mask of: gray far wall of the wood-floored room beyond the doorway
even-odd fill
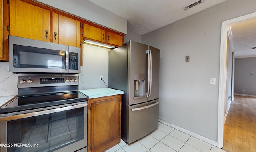
[[[235,67],[234,93],[256,96],[256,57],[236,58]]]

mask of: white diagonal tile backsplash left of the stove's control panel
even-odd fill
[[[18,94],[18,74],[9,72],[9,63],[0,62],[0,96],[12,96]]]

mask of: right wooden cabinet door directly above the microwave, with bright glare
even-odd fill
[[[52,42],[80,47],[80,22],[53,12]]]

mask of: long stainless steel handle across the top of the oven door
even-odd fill
[[[44,115],[44,114],[50,114],[50,113],[55,113],[55,112],[61,112],[61,111],[86,107],[87,105],[88,105],[87,103],[85,103],[85,104],[76,104],[76,105],[73,105],[73,106],[54,108],[54,109],[43,110],[43,111],[38,111],[38,112],[31,112],[31,113],[27,113],[27,114],[17,114],[17,115],[13,115],[13,116],[5,116],[5,117],[1,117],[0,121],[10,121],[10,120],[28,118],[28,117],[33,117],[33,116],[40,116],[40,115]]]

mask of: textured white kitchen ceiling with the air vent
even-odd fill
[[[127,20],[127,29],[140,35],[220,4],[226,0],[88,0]]]

